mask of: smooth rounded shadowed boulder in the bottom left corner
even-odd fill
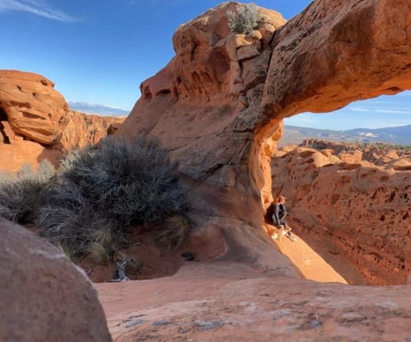
[[[97,291],[51,244],[0,219],[0,341],[111,341]]]

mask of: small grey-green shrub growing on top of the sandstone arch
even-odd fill
[[[236,34],[249,34],[258,25],[260,11],[254,3],[242,5],[237,12],[227,11],[228,29]]]

